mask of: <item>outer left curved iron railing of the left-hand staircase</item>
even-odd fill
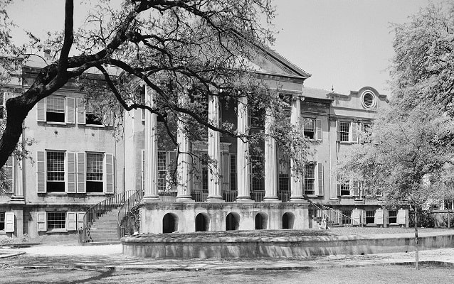
[[[116,195],[112,195],[106,200],[102,200],[101,202],[93,205],[87,210],[87,212],[85,212],[85,214],[83,215],[83,227],[79,228],[80,243],[89,243],[93,241],[92,237],[90,236],[90,228],[93,223],[97,218],[101,217],[106,212],[110,212],[112,211],[112,209],[120,207],[125,202],[127,192],[120,192]]]

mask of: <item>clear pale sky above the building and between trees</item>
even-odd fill
[[[0,0],[1,1],[1,0]],[[436,2],[436,0],[433,0]],[[95,1],[85,0],[86,3]],[[427,6],[429,0],[274,0],[275,45],[280,55],[312,76],[305,87],[348,94],[370,86],[390,94],[394,55],[392,23]],[[75,15],[88,5],[75,1]],[[63,29],[63,0],[16,0],[11,18],[37,35]],[[75,26],[83,18],[75,17]],[[19,37],[19,33],[15,33]]]

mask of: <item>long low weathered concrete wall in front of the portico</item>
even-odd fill
[[[454,232],[423,234],[419,248],[454,247]],[[308,236],[295,238],[227,238],[129,236],[122,239],[123,253],[144,258],[261,258],[327,256],[414,251],[411,234],[373,236]]]

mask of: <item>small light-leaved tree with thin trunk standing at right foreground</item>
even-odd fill
[[[418,214],[431,198],[439,197],[441,178],[453,163],[454,120],[440,107],[419,104],[381,112],[364,144],[352,146],[339,158],[343,180],[357,180],[371,196],[383,195],[386,204],[409,204],[414,210],[416,268]],[[451,174],[452,175],[452,174]]]

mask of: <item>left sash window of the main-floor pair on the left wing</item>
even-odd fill
[[[65,192],[65,153],[46,152],[46,187],[48,192]]]

